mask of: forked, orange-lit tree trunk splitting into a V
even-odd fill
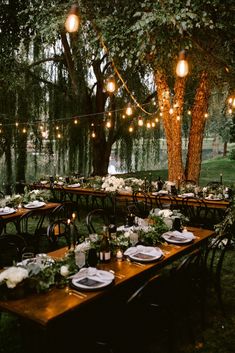
[[[159,70],[155,72],[155,85],[167,142],[168,180],[177,182],[184,176],[180,116],[184,103],[185,79],[176,79],[175,96],[172,103],[166,76]],[[172,113],[170,113],[171,108],[173,108]]]

